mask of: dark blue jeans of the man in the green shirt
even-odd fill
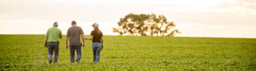
[[[59,56],[59,44],[49,42],[49,43],[47,43],[47,46],[48,46],[48,60],[52,60],[52,54],[54,51],[54,62],[53,63],[57,63],[58,56]]]

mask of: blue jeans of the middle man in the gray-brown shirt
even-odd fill
[[[76,50],[76,60],[81,60],[81,45],[80,46],[69,46],[70,47],[70,61],[71,63],[75,62],[75,50]]]

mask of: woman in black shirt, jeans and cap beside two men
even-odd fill
[[[86,37],[86,39],[92,40],[93,61],[99,62],[100,51],[103,48],[103,35],[98,23],[93,23],[92,27],[91,37]]]

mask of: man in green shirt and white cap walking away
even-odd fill
[[[48,47],[48,60],[49,63],[52,63],[52,53],[54,51],[54,62],[58,62],[59,56],[59,38],[62,38],[61,30],[57,28],[58,22],[54,22],[53,27],[47,30],[45,36],[45,42],[47,42]]]

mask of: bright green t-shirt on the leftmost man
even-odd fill
[[[51,27],[47,30],[45,37],[48,37],[47,42],[58,42],[62,38],[61,30],[57,27]]]

